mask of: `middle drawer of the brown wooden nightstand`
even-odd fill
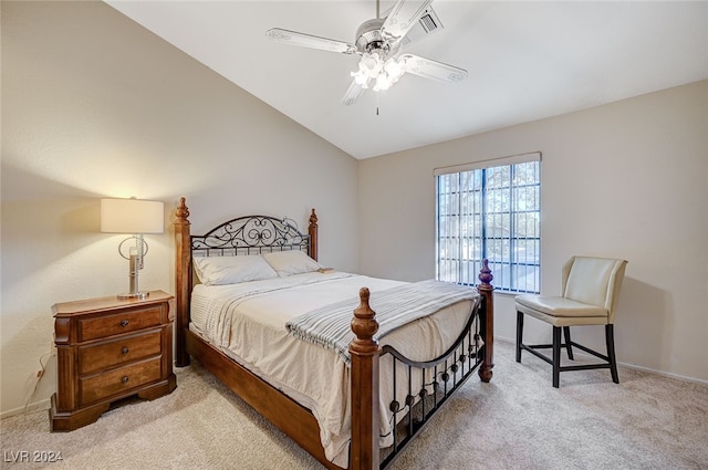
[[[93,372],[127,364],[160,354],[160,330],[136,336],[122,337],[93,346],[79,347],[79,374]]]

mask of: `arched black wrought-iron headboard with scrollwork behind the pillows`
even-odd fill
[[[315,218],[314,209],[310,221]],[[191,236],[195,257],[260,254],[272,251],[310,252],[310,234],[300,232],[288,219],[269,216],[239,217],[225,222],[207,234]]]

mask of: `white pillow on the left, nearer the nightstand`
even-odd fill
[[[195,271],[205,285],[236,284],[278,278],[278,273],[258,254],[239,257],[195,257]]]

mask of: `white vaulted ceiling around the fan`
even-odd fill
[[[355,158],[368,158],[708,79],[708,2],[450,1],[403,52],[466,69],[341,103],[358,58],[269,41],[283,28],[354,42],[358,1],[107,0]],[[386,11],[393,1],[382,1]]]

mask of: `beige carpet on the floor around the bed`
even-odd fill
[[[393,469],[708,469],[708,387],[633,369],[561,374],[498,342],[490,384],[468,382]],[[49,432],[48,412],[0,421],[2,468],[320,469],[198,364],[178,388],[97,422]],[[442,429],[440,426],[447,427]],[[54,463],[12,462],[61,452]]]

